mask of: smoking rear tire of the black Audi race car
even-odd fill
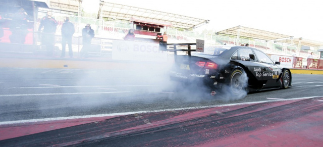
[[[243,77],[242,71],[239,69],[234,70],[231,73],[229,86],[234,95],[241,94],[246,85],[246,80]]]

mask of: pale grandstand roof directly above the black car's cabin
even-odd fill
[[[228,35],[234,35],[238,38],[240,36],[247,37],[247,38],[254,38],[254,39],[261,39],[261,40],[277,40],[277,39],[283,39],[283,38],[291,38],[292,36],[254,29],[254,28],[248,28],[243,26],[236,26],[233,28],[225,29],[222,31],[217,32],[217,34],[228,34]]]

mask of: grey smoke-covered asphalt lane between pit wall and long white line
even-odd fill
[[[157,74],[159,73],[159,75]],[[323,75],[293,74],[292,87],[249,93],[243,99],[176,89],[163,72],[4,69],[0,121],[213,107],[323,95]],[[140,78],[140,77],[144,78]],[[165,78],[157,78],[165,77]],[[161,84],[163,83],[163,84]]]

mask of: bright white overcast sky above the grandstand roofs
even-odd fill
[[[87,2],[88,1],[88,2]],[[294,38],[323,42],[323,1],[317,0],[200,0],[200,1],[124,1],[104,2],[151,9],[161,12],[209,20],[198,30],[222,31],[238,25],[260,29]],[[93,10],[98,0],[84,0],[84,10]],[[86,9],[86,7],[88,7]]]

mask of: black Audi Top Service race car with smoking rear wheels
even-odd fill
[[[176,49],[176,47],[175,47]],[[175,64],[170,71],[172,80],[188,84],[202,84],[211,95],[230,91],[241,92],[273,88],[288,88],[292,74],[281,68],[266,54],[247,46],[215,46],[204,48],[204,52],[187,51],[188,55],[175,52]]]

